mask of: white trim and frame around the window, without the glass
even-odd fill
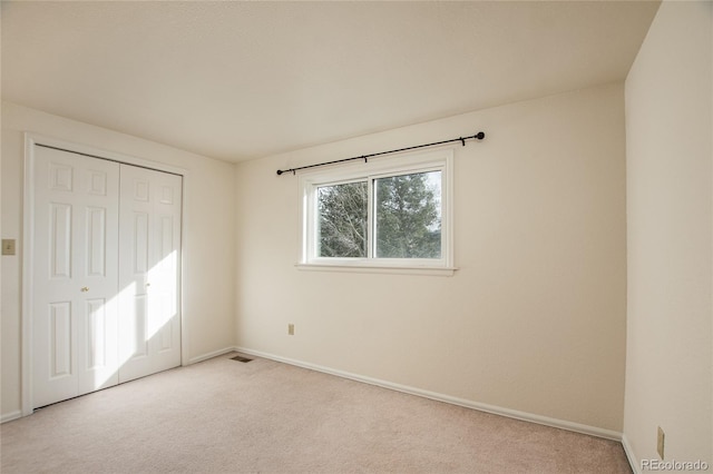
[[[325,258],[316,257],[318,186],[367,180],[370,191],[374,178],[400,174],[441,171],[441,258]],[[329,169],[303,172],[300,188],[300,250],[296,267],[302,270],[389,273],[452,276],[453,266],[453,150],[452,148],[420,154],[381,157]],[[371,216],[369,209],[369,234]],[[370,253],[371,253],[370,237]]]

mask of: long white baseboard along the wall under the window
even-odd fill
[[[466,408],[472,408],[480,412],[492,413],[495,415],[507,416],[508,418],[521,419],[524,422],[537,423],[539,425],[551,426],[555,428],[567,429],[570,432],[587,434],[606,440],[622,441],[622,433],[604,429],[596,426],[583,425],[580,423],[567,422],[564,419],[550,418],[548,416],[535,415],[533,413],[519,412],[517,409],[504,408],[501,406],[487,405],[485,403],[478,403],[465,398],[458,398],[450,395],[439,394],[436,392],[424,391],[421,388],[410,387],[407,385],[394,384],[378,378],[365,377],[358,374],[351,374],[349,372],[338,371],[330,367],[323,367],[321,365],[310,364],[302,361],[292,359],[289,357],[276,356],[274,354],[263,353],[261,350],[253,350],[246,347],[234,347],[234,350],[254,355],[256,357],[268,358],[276,362],[282,362],[297,367],[309,368],[316,372],[323,372],[325,374],[335,375],[338,377],[349,378],[356,382],[363,382],[371,385],[377,385],[383,388],[390,388],[398,392],[403,392],[410,395],[422,396],[424,398],[431,398],[437,402],[450,403],[452,405],[463,406]],[[631,462],[631,460],[629,460]]]

